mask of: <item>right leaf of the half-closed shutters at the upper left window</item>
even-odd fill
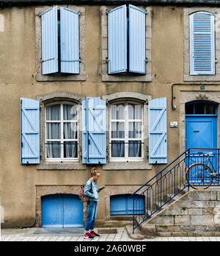
[[[78,13],[60,7],[61,72],[79,74]]]

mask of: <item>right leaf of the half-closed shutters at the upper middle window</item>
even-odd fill
[[[146,73],[146,13],[129,4],[129,71]]]

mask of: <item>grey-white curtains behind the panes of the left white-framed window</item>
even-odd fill
[[[60,104],[48,106],[46,109],[47,121],[60,121]],[[63,105],[63,138],[77,139],[77,122],[65,122],[67,120],[77,120],[77,106],[64,104]],[[47,123],[47,139],[60,139],[61,127],[59,123]],[[47,157],[60,158],[61,144],[59,141],[47,145]],[[77,157],[78,146],[76,143],[64,142],[64,157]]]

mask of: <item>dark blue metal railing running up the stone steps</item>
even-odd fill
[[[220,149],[187,149],[175,160],[169,163],[169,165],[159,171],[158,174],[155,174],[155,176],[132,193],[133,232],[144,221],[147,221],[147,219],[153,216],[154,213],[158,212],[161,207],[164,207],[164,205],[177,196],[177,194],[186,188],[189,189],[186,180],[186,171],[188,167],[193,164],[193,160],[198,161],[198,157],[201,157],[199,161],[202,162],[209,154],[207,152],[199,152],[201,150],[216,151],[217,153],[212,152],[212,154],[218,157],[216,158],[216,163],[220,162]],[[216,171],[219,172],[218,164],[216,166]],[[216,185],[219,185],[219,182],[217,182]]]

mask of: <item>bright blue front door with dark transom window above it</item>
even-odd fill
[[[194,150],[190,151],[187,167],[194,163],[204,163],[208,164],[213,171],[217,171],[218,155],[214,150],[217,146],[216,105],[206,102],[188,104],[186,106],[186,149]],[[191,180],[191,182],[194,181]]]

